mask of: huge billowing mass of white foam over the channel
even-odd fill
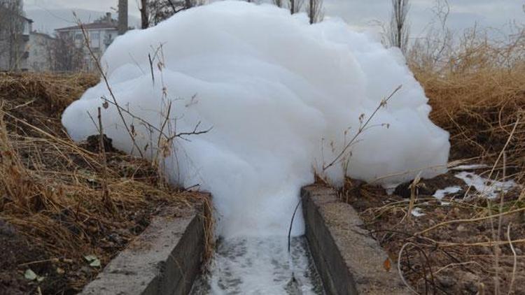
[[[155,59],[155,82],[148,54]],[[162,125],[164,89],[177,132],[192,131],[198,122],[200,129],[213,127],[188,141],[177,138],[164,164],[173,182],[214,195],[223,236],[286,235],[300,187],[342,150],[360,115],[370,115],[398,85],[371,122],[389,128],[360,137],[347,174],[369,182],[395,175],[378,182],[391,186],[420,171],[433,176],[447,163],[449,136],[428,119],[426,96],[400,51],[342,20],[310,25],[304,14],[221,1],[116,38],[102,65],[120,106],[142,120]],[[97,134],[93,121],[102,96],[111,100],[104,82],[65,110],[62,122],[74,140]],[[158,133],[123,115],[151,156]],[[115,147],[133,151],[115,106],[102,108],[102,122]],[[326,174],[335,183],[344,179],[340,164]],[[297,217],[293,234],[303,230]]]

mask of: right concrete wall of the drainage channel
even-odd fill
[[[356,210],[319,185],[301,192],[306,238],[327,294],[410,294]]]

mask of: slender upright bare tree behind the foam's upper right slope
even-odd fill
[[[408,47],[409,24],[408,10],[410,7],[409,0],[391,0],[392,17],[390,28],[388,30],[388,43],[391,46],[400,48],[405,53]]]

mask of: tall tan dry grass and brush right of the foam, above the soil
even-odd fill
[[[451,134],[451,159],[481,157],[490,163],[498,157],[525,112],[524,56],[525,31],[506,43],[473,31],[441,66],[409,57],[433,107],[432,120]],[[507,164],[514,173],[525,169],[525,120],[507,148]]]

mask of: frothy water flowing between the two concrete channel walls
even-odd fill
[[[193,295],[325,294],[304,237],[220,240],[209,273],[197,279]]]

